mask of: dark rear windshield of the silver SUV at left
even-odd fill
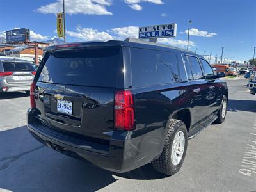
[[[30,63],[3,62],[4,71],[35,71]]]

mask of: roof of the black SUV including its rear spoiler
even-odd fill
[[[164,45],[154,42],[148,42],[145,40],[140,40],[137,38],[126,38],[124,41],[122,40],[108,40],[106,42],[103,41],[90,41],[90,42],[74,42],[74,43],[68,43],[68,44],[60,44],[60,45],[52,45],[49,47],[46,47],[46,51],[61,51],[61,50],[67,50],[67,49],[75,49],[77,47],[109,47],[109,46],[123,46],[123,47],[134,47],[134,46],[140,46],[143,48],[167,48],[167,49],[173,49],[178,50],[182,52],[187,52],[189,54],[195,54],[192,51],[188,51],[186,49],[181,49],[177,47],[172,47],[170,45]],[[154,46],[154,47],[153,47]]]

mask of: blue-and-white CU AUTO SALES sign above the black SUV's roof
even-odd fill
[[[139,28],[139,38],[166,38],[175,37],[177,24],[162,24],[157,26],[146,26]]]

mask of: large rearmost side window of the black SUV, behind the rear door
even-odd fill
[[[132,48],[131,63],[133,87],[179,81],[174,52]]]

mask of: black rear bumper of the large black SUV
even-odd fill
[[[27,113],[28,130],[40,143],[68,156],[90,161],[111,172],[129,172],[150,163],[161,154],[162,143],[148,147],[150,142],[148,134],[159,134],[159,129],[141,136],[132,136],[132,132],[113,131],[106,149],[106,143],[92,143],[92,141],[83,140],[84,144],[81,145],[81,142],[70,140],[67,136],[60,138],[54,129],[51,129],[51,132],[45,131],[46,127],[43,124],[39,126],[31,122],[33,121],[32,113],[33,110],[29,109]]]

